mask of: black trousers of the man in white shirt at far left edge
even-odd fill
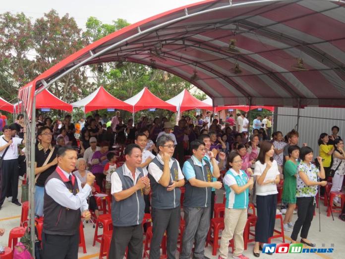
[[[2,161],[0,174],[0,206],[3,204],[6,196],[10,196],[8,189],[12,190],[12,202],[18,201],[18,159]]]

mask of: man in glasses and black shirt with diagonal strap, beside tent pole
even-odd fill
[[[52,130],[43,126],[37,131],[35,147],[35,214],[43,216],[44,184],[58,164],[58,148],[52,146]]]

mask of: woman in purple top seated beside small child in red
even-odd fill
[[[100,145],[101,149],[96,151],[92,158],[91,158],[91,172],[96,176],[96,183],[100,187],[101,192],[106,191],[103,190],[103,179],[105,179],[105,175],[103,174],[105,165],[109,162],[107,158],[107,154],[109,152],[109,142],[103,141]]]

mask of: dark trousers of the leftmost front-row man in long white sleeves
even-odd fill
[[[79,231],[72,236],[42,233],[44,259],[77,259]]]

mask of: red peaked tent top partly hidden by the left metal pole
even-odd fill
[[[21,102],[19,102],[21,104]],[[54,94],[52,94],[47,89],[43,90],[36,96],[36,108],[43,109],[43,108],[50,108],[56,110],[62,110],[66,112],[72,112],[73,107],[72,105],[60,100]],[[14,109],[16,112],[21,112],[21,105],[18,103],[14,104]]]

